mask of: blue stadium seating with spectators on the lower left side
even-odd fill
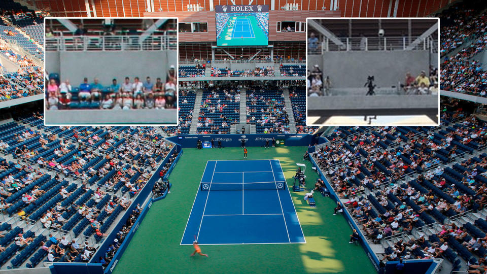
[[[194,93],[189,93],[183,98],[192,98],[194,104]],[[144,148],[146,141],[138,138],[155,138],[156,136],[159,137],[163,153],[159,154],[158,151],[153,150],[146,153],[146,148]],[[85,139],[89,142],[85,142],[86,147],[81,149],[75,145],[77,139]],[[19,140],[23,141],[19,142]],[[105,208],[111,199],[122,196],[130,199],[136,194],[123,184],[117,187],[111,186],[116,172],[115,169],[108,170],[111,168],[110,161],[122,159],[120,162],[124,163],[128,172],[131,172],[131,163],[134,161],[150,169],[152,163],[162,161],[168,152],[168,147],[161,135],[150,127],[45,127],[39,117],[33,116],[0,125],[0,141],[8,145],[0,153],[14,158],[14,161],[9,162],[4,158],[0,159],[0,163],[5,168],[0,172],[0,180],[9,186],[3,186],[3,188],[11,192],[10,196],[5,197],[5,203],[8,206],[4,214],[15,217],[13,220],[16,220],[14,224],[0,224],[0,231],[7,231],[0,238],[0,245],[7,248],[0,254],[0,265],[14,268],[35,267],[45,260],[47,251],[41,249],[40,244],[45,242],[44,246],[51,246],[53,244],[51,241],[46,242],[46,239],[49,240],[47,235],[56,233],[60,237],[63,234],[59,234],[59,229],[68,231],[68,235],[72,233],[76,237],[82,234],[84,239],[91,238],[93,243],[100,241],[101,238],[93,234],[94,228],[88,225],[90,218],[98,223],[103,223],[100,230],[107,232],[116,217],[124,212],[124,206],[126,206],[115,203],[114,211],[108,214]],[[138,153],[137,155],[123,155],[120,147],[131,148]],[[20,148],[23,148],[23,151]],[[99,153],[93,154],[95,151],[99,151]],[[40,164],[41,161],[44,163]],[[113,163],[117,164],[117,161]],[[54,164],[51,165],[51,163]],[[107,170],[103,171],[106,168]],[[67,170],[69,171],[66,173]],[[94,170],[95,173],[90,174],[90,170]],[[133,175],[126,174],[128,182],[134,188],[141,188],[147,177],[142,178],[143,173],[138,170],[133,170],[133,172]],[[68,174],[65,178],[69,178],[69,181],[61,179],[61,174]],[[81,179],[81,176],[85,175],[86,179]],[[10,189],[10,185],[14,186],[13,183],[15,183],[15,181],[12,183],[10,178],[19,180],[17,190]],[[21,183],[24,180],[31,180],[31,182],[23,185]],[[82,182],[86,183],[82,184]],[[98,191],[106,192],[99,200],[96,199],[96,195],[93,197],[93,194]],[[28,201],[26,195],[35,196],[35,200]],[[59,210],[58,207],[62,209]],[[93,208],[100,213],[89,217],[90,215],[87,215],[87,211],[84,210],[88,208]],[[46,212],[52,212],[53,221],[46,219]],[[17,234],[22,233],[21,227],[25,226],[23,223],[26,221],[29,223],[40,221],[46,229],[35,236],[30,231],[24,232],[24,238],[33,237],[34,239],[16,254],[19,248],[12,241]],[[60,261],[67,259],[67,254],[55,254],[55,256],[60,256]],[[82,260],[81,256],[76,256],[74,259],[78,262]]]

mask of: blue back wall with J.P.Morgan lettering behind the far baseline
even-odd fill
[[[276,140],[284,139],[285,146],[308,146],[313,139],[311,134],[208,134],[208,135],[180,135],[172,136],[167,140],[180,144],[182,148],[195,148],[196,142],[210,142],[215,140],[215,146],[218,141],[222,142],[222,147],[239,147],[242,139],[245,140],[248,147],[263,147],[265,142],[272,144],[272,138]]]

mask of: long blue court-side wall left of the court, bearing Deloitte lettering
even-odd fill
[[[180,151],[181,146],[174,146],[172,149],[169,151],[169,154],[167,157],[164,158],[162,163],[157,167],[154,175],[149,179],[147,184],[142,188],[141,192],[138,194],[138,196],[135,198],[135,200],[132,201],[130,204],[130,207],[127,209],[127,211],[124,213],[118,224],[113,228],[113,230],[110,232],[110,234],[106,237],[105,241],[103,244],[98,248],[96,253],[93,255],[93,257],[90,260],[90,263],[98,263],[100,257],[104,257],[105,253],[107,252],[108,247],[113,243],[113,240],[115,239],[115,236],[117,235],[118,231],[122,228],[122,226],[125,224],[127,221],[128,217],[132,213],[132,211],[135,209],[137,203],[138,204],[143,204],[144,201],[147,199],[147,197],[151,194],[152,188],[154,187],[154,184],[160,179],[159,177],[159,172],[161,169],[164,167],[164,165],[169,161],[170,155],[172,155],[175,151]],[[179,158],[178,158],[179,159]],[[176,160],[172,163],[172,165],[176,164]],[[168,174],[168,173],[167,173]],[[147,205],[152,205],[152,200],[147,203]],[[147,208],[148,209],[148,208]],[[147,211],[147,209],[145,209]],[[147,212],[146,212],[147,213]],[[140,224],[140,221],[143,219],[145,214],[142,214],[137,218],[137,222],[132,226],[131,232],[129,235],[133,235],[133,232],[138,228],[138,225]],[[141,218],[142,217],[142,218]],[[133,230],[133,232],[132,232]],[[123,245],[127,245],[128,242],[130,241],[130,238],[128,235],[124,239],[124,242],[122,243],[122,246],[119,248],[117,253],[115,254],[114,258],[110,262],[109,267],[105,269],[105,273],[111,273],[111,270],[115,268],[114,266],[117,264],[118,260],[120,259],[119,257],[122,255],[123,250],[125,250],[126,246],[123,247]],[[123,250],[122,250],[123,247]]]

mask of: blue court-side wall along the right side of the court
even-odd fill
[[[312,157],[309,157],[309,159],[311,161],[311,164],[316,167],[316,170],[317,170],[318,174],[320,175],[320,178],[323,180],[323,182],[325,182],[326,188],[330,191],[330,197],[335,201],[339,201],[340,198],[335,193],[333,187],[330,185],[330,183],[326,179],[325,175],[321,172],[321,170],[320,170],[318,164],[316,163],[315,159],[313,159]],[[372,251],[370,246],[367,244],[367,240],[366,240],[365,236],[362,234],[362,231],[359,229],[359,227],[357,226],[355,221],[352,219],[352,216],[350,215],[350,213],[346,209],[343,210],[343,217],[345,217],[346,221],[349,222],[349,225],[351,228],[357,229],[357,232],[359,233],[360,239],[361,239],[360,244],[364,248],[365,253],[369,257],[370,261],[374,265],[375,270],[377,270],[377,272],[379,272],[381,270],[379,267],[379,259],[377,258],[375,253]],[[382,271],[385,270],[386,271],[385,273],[394,273],[396,263],[397,262],[388,263],[386,265],[386,268],[382,269]],[[421,274],[421,273],[430,274],[430,273],[432,273],[434,267],[436,266],[436,263],[433,260],[407,260],[407,261],[404,261],[404,264],[406,267],[406,268],[404,268],[404,273],[418,273],[418,274]],[[384,273],[384,272],[382,272],[382,273]]]

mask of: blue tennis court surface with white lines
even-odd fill
[[[181,245],[305,243],[279,160],[208,161]]]

